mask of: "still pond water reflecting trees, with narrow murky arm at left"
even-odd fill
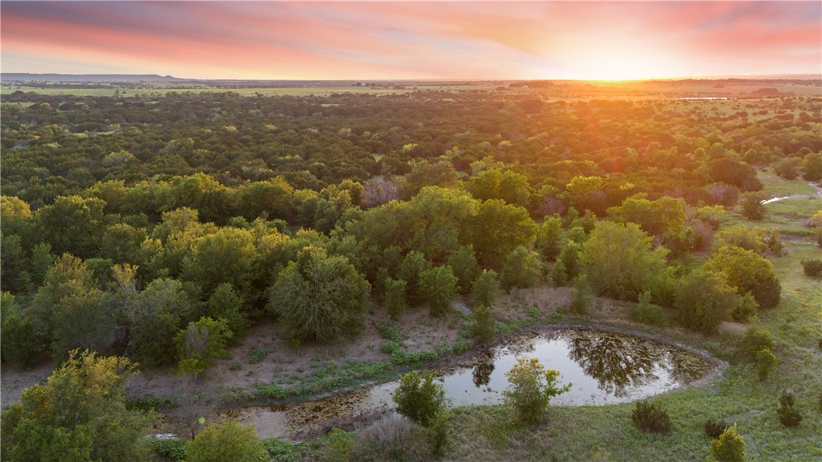
[[[570,405],[621,403],[658,395],[704,377],[714,367],[695,353],[638,336],[564,329],[517,338],[487,356],[444,372],[438,380],[451,406],[498,404],[508,386],[505,373],[516,358],[538,358],[546,368],[559,371],[561,385],[573,385],[552,403]],[[391,393],[398,385],[399,381],[391,381],[326,400],[221,409],[219,414],[243,424],[254,423],[260,437],[288,437],[344,418],[390,412]]]

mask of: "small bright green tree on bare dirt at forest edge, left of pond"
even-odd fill
[[[189,322],[187,328],[174,336],[180,359],[178,373],[201,374],[217,359],[226,358],[229,355],[226,344],[232,336],[224,320],[201,317],[199,321]]]

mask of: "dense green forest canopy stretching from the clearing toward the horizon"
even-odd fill
[[[174,336],[207,316],[334,341],[400,281],[434,314],[483,269],[510,289],[556,258],[555,281],[581,271],[597,293],[673,306],[680,259],[761,188],[757,169],[822,178],[820,113],[810,96],[16,91],[2,96],[3,359],[84,347],[172,363]],[[706,270],[762,266],[732,244],[720,256]],[[778,300],[778,281],[723,278]]]

